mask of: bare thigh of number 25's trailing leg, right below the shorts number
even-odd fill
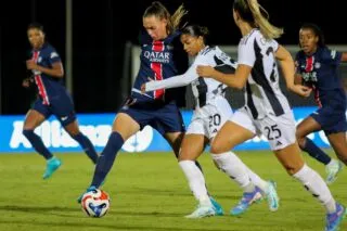
[[[290,175],[296,174],[305,164],[300,147],[296,142],[273,152]]]

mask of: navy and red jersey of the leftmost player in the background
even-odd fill
[[[60,55],[49,43],[44,43],[38,50],[31,50],[31,60],[34,60],[38,65],[46,68],[52,68],[53,63],[61,62]],[[50,98],[60,94],[62,91],[65,91],[61,78],[54,78],[35,69],[33,69],[33,74],[35,77],[35,84],[37,86],[39,95],[42,98],[43,104],[49,105]]]

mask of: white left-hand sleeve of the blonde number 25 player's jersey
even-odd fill
[[[237,63],[244,64],[247,66],[253,67],[254,63],[256,62],[256,54],[254,51],[254,38],[248,38],[246,41],[241,40],[239,43],[239,57]]]

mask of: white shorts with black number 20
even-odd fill
[[[187,134],[203,134],[211,140],[223,124],[232,116],[228,101],[218,97],[202,108],[195,110]]]

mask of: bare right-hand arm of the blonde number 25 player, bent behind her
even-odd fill
[[[282,66],[286,87],[294,93],[297,93],[301,97],[309,97],[311,89],[295,84],[295,66],[291,53],[284,47],[279,44],[274,55]]]

